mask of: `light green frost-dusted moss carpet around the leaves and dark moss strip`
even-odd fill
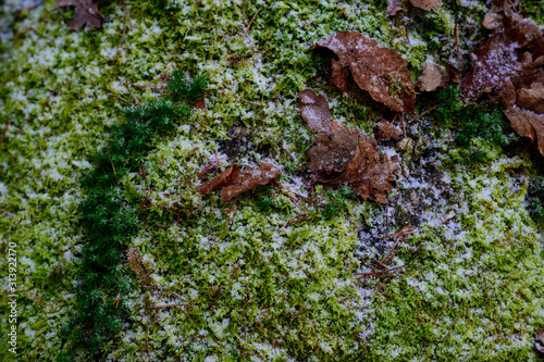
[[[89,155],[123,120],[123,102],[110,95],[131,100],[127,84],[162,84],[160,74],[175,70],[207,74],[208,110],[153,138],[146,177],[129,173],[120,184],[126,197],[144,200],[132,245],[154,283],[186,301],[148,290],[133,275],[125,296],[131,315],[102,355],[536,359],[532,335],[544,325],[544,254],[526,196],[542,168],[507,128],[508,149],[484,134],[459,148],[456,136],[467,122],[456,118],[458,110],[409,125],[415,148],[399,153],[410,175],[390,195],[395,216],[388,222],[398,229],[415,221],[411,211],[419,233],[396,254],[406,273],[394,278],[364,286],[354,278],[368,258],[392,246],[387,240],[376,248],[361,237],[361,230],[383,235],[386,209],[345,189],[309,194],[301,182],[312,135],[300,118],[297,91],[312,87],[327,98],[335,120],[367,134],[382,115],[391,116],[369,99],[329,87],[329,60],[313,53],[312,43],[359,30],[403,53],[416,79],[428,57],[457,64],[456,22],[468,59],[483,34],[484,4],[445,2],[437,13],[406,5],[407,16],[397,21],[385,17],[385,1],[280,1],[261,9],[245,38],[260,2],[177,1],[175,9],[157,11],[152,2],[127,0],[129,20],[118,49],[125,27],[121,3],[101,3],[104,28],[89,33],[70,32],[70,12],[54,3],[25,9],[4,1],[1,20],[0,129],[11,125],[0,145],[0,232],[2,250],[17,244],[16,359],[54,360],[74,348],[60,332],[73,316],[84,272],[81,179],[90,173]],[[150,88],[132,91],[140,102],[159,96]],[[418,111],[434,101],[418,97]],[[227,137],[233,127],[244,129],[235,141]],[[392,152],[392,146],[381,149]],[[219,195],[201,197],[196,175],[218,149],[223,166],[274,162],[284,171],[283,185],[331,207],[301,200],[297,207],[274,185],[223,204]],[[474,150],[485,158],[468,160]],[[452,211],[455,216],[445,220]],[[284,227],[301,212],[306,220]],[[7,340],[7,300],[0,303]],[[146,309],[168,303],[187,305]],[[0,354],[12,358],[8,345],[0,346]],[[85,360],[82,351],[76,357]]]

